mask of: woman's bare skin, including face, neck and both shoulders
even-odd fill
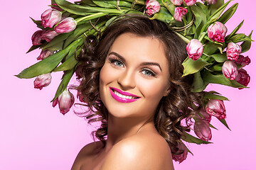
[[[174,169],[169,145],[154,127],[159,101],[170,92],[168,79],[161,41],[119,35],[100,72],[100,98],[109,112],[106,147],[96,152],[101,142],[86,145],[73,169]]]

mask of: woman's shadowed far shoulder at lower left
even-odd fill
[[[80,169],[80,166],[82,164],[85,164],[86,162],[90,162],[90,157],[97,154],[97,150],[102,147],[102,142],[91,142],[85,147],[82,147],[80,152],[78,153],[78,156],[75,158],[75,162],[72,166],[72,170]]]

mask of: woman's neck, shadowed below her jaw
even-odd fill
[[[139,131],[154,128],[154,118],[116,118],[109,114],[107,120],[107,145],[108,152],[117,142],[136,135]]]

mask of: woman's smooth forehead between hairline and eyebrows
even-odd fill
[[[123,33],[114,40],[109,52],[117,52],[123,57],[139,60],[152,60],[160,64],[168,64],[164,43],[161,40],[133,33]]]

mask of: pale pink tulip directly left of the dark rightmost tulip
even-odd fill
[[[225,78],[234,80],[238,76],[238,66],[231,60],[225,61],[222,72]]]

